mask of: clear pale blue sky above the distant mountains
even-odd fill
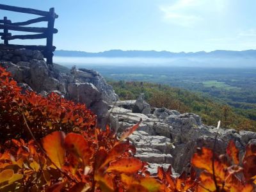
[[[59,15],[56,19],[59,32],[54,35],[57,49],[88,52],[256,49],[255,0],[1,0],[1,3],[40,10],[55,7]],[[15,21],[36,17],[3,10],[0,15],[8,15]],[[35,40],[23,42],[33,43]]]

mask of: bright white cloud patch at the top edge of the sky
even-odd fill
[[[184,27],[192,27],[209,13],[223,11],[228,0],[178,0],[168,6],[159,6],[164,20]]]

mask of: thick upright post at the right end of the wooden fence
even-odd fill
[[[49,10],[49,20],[48,20],[48,31],[46,39],[46,60],[47,64],[52,65],[52,40],[53,40],[53,30],[54,30],[55,12],[54,8]]]

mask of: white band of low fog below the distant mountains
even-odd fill
[[[256,68],[253,58],[100,58],[100,57],[60,57],[54,56],[54,63],[86,66],[125,67],[225,67]]]

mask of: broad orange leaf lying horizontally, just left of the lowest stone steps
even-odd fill
[[[143,163],[140,159],[125,157],[110,163],[106,172],[137,173],[141,168]]]

